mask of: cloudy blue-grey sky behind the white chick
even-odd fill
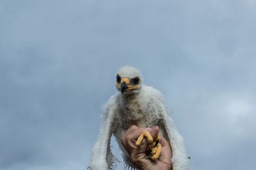
[[[1,0],[0,169],[85,170],[124,65],[164,93],[192,170],[255,169],[255,30],[253,0]]]

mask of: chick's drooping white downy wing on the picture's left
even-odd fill
[[[109,98],[105,105],[104,120],[100,127],[97,142],[92,149],[90,167],[93,170],[110,169],[113,165],[113,154],[110,150],[110,139],[113,132],[112,125],[115,118],[115,96]]]

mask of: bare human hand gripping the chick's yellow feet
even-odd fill
[[[128,130],[122,135],[121,141],[125,150],[129,153],[130,158],[134,166],[138,169],[163,169],[172,170],[172,148],[163,135],[159,140],[162,146],[161,155],[157,160],[150,160],[148,158],[148,145],[147,138],[145,137],[141,143],[140,148],[136,146],[136,140],[143,132],[148,131],[152,135],[153,139],[157,138],[159,133],[159,127],[152,128],[139,128],[136,125],[132,125]]]

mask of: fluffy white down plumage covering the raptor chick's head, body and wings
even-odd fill
[[[127,89],[124,93],[116,93],[109,98],[105,105],[104,121],[100,128],[98,140],[92,150],[91,169],[111,169],[113,166],[115,158],[110,150],[112,134],[115,135],[116,141],[123,151],[125,164],[134,167],[120,141],[121,136],[131,125],[149,128],[154,128],[157,125],[160,134],[169,141],[172,147],[173,170],[189,169],[184,139],[175,128],[161,92],[143,85],[141,73],[136,68],[125,66],[118,70],[117,75],[121,79],[127,77],[130,80],[139,77],[140,82],[138,84],[131,82],[131,85],[136,86],[136,88]],[[121,92],[122,89],[118,86],[118,82],[116,87]]]

